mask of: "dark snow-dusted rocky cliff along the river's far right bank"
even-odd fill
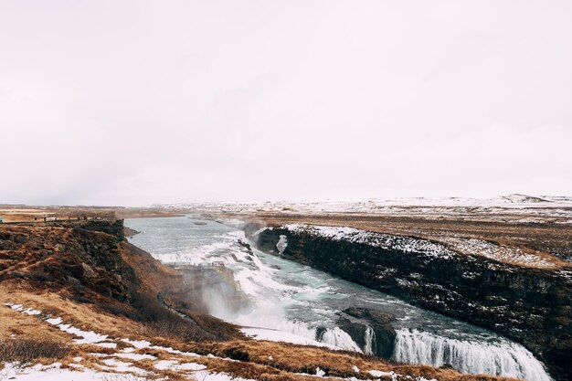
[[[427,239],[354,229],[267,228],[254,238],[267,252],[501,333],[543,359],[556,378],[572,378],[567,270],[515,266]]]

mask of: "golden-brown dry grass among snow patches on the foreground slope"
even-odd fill
[[[93,330],[97,333],[110,334],[111,337],[130,337],[137,340],[149,340],[154,344],[171,346],[183,351],[196,352],[202,355],[213,354],[220,357],[240,359],[241,362],[224,361],[208,357],[185,357],[172,355],[161,350],[143,349],[137,353],[156,355],[159,359],[177,359],[181,363],[197,362],[207,365],[210,371],[227,372],[232,376],[241,376],[264,381],[302,381],[314,379],[310,376],[301,376],[299,373],[315,374],[315,368],[320,367],[328,376],[367,378],[367,374],[355,374],[353,365],[363,371],[376,369],[395,371],[409,376],[424,376],[438,378],[440,381],[464,380],[499,380],[493,376],[461,375],[450,369],[435,369],[429,366],[395,365],[381,359],[355,355],[351,353],[334,352],[323,348],[300,346],[294,344],[280,344],[272,342],[256,342],[241,340],[225,343],[186,343],[175,337],[143,336],[144,323],[134,322],[121,316],[114,316],[108,312],[98,311],[94,305],[81,304],[62,299],[52,292],[35,293],[26,288],[26,285],[17,284],[16,281],[0,284],[0,299],[6,302],[18,302],[26,307],[43,312],[52,313],[61,317],[65,323],[72,323],[83,330]],[[45,341],[55,340],[58,343],[70,343],[70,335],[59,331],[48,323],[41,322],[36,316],[13,311],[5,306],[0,307],[0,335],[3,337],[16,333],[16,337],[26,337],[29,340]],[[118,343],[118,349],[125,346]],[[115,349],[101,348],[95,345],[73,345],[72,351],[61,362],[69,365],[71,357],[81,356],[82,365],[99,370],[101,358],[91,353],[105,353],[112,355]],[[271,356],[271,359],[269,358]],[[160,376],[181,375],[173,371],[158,371],[154,369],[154,362],[150,360],[132,361],[133,365],[145,370],[154,371]]]

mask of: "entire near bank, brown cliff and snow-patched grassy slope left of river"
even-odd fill
[[[501,379],[253,341],[184,285],[125,241],[122,221],[0,226],[0,379]]]

